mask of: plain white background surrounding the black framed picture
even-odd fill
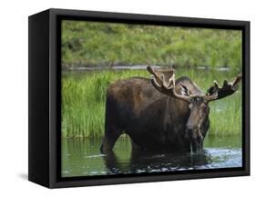
[[[2,0],[0,5],[0,196],[210,197],[255,193],[256,6],[252,0]],[[251,176],[59,190],[27,182],[27,16],[49,7],[251,21]]]

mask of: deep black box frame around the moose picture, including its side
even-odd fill
[[[176,25],[242,31],[242,167],[191,172],[119,174],[61,178],[60,176],[60,80],[63,19],[100,22]],[[48,9],[28,20],[28,180],[48,188],[159,182],[250,175],[250,22],[162,15],[134,15],[64,9]]]

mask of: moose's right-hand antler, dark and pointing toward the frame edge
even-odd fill
[[[207,94],[205,95],[205,100],[210,102],[234,94],[238,90],[240,82],[241,74],[239,74],[231,83],[229,83],[228,80],[224,80],[222,87],[214,81],[214,85],[208,89]]]

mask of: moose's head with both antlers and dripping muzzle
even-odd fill
[[[191,94],[192,91],[190,91],[189,86],[186,84],[175,84],[175,70],[154,70],[150,66],[147,69],[152,74],[151,83],[161,94],[167,94],[188,104],[189,119],[186,123],[184,137],[190,142],[191,152],[202,150],[205,135],[201,133],[201,128],[209,117],[209,103],[234,94],[239,88],[241,74],[230,83],[224,80],[221,87],[214,81],[206,94],[201,94],[201,92]],[[179,94],[177,93],[178,90]]]

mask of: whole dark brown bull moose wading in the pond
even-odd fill
[[[222,87],[214,81],[203,94],[189,77],[175,80],[173,69],[147,70],[152,79],[132,77],[109,85],[101,153],[111,152],[122,133],[129,135],[133,150],[200,152],[210,127],[209,103],[234,94],[241,74]]]

